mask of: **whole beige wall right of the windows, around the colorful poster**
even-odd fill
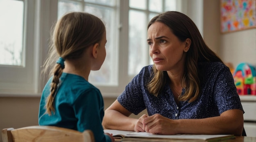
[[[256,29],[231,33],[220,32],[220,1],[204,0],[204,40],[224,62],[234,68],[240,62],[256,66]]]

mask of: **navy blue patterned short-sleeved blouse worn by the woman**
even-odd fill
[[[152,67],[149,65],[141,69],[117,98],[122,106],[135,115],[147,109],[148,115],[159,113],[170,119],[200,119],[219,116],[230,109],[243,111],[233,76],[225,64],[220,62],[199,64],[202,93],[191,103],[180,101],[179,106],[168,84],[157,97],[148,93],[146,85],[150,81],[150,74],[153,73]],[[185,89],[182,95],[184,91]]]

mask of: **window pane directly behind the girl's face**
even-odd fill
[[[117,24],[113,17],[115,16],[114,9],[100,6],[85,6],[85,12],[92,13],[95,16],[101,18],[106,25],[106,59],[103,62],[99,71],[91,71],[89,80],[93,84],[102,85],[117,85]]]

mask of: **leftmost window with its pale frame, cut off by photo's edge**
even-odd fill
[[[34,1],[0,0],[0,18],[0,92],[35,93]]]

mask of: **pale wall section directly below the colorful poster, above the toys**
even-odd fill
[[[220,36],[220,56],[235,67],[248,62],[256,67],[256,29],[247,29]]]

